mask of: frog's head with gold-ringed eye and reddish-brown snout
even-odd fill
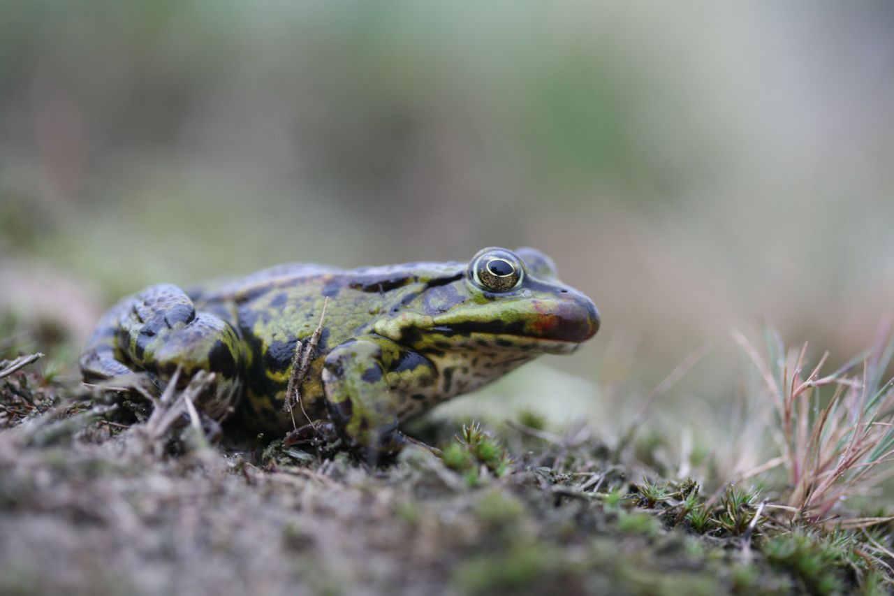
[[[392,334],[417,350],[569,353],[594,336],[599,312],[562,284],[552,259],[532,248],[478,251],[468,265],[428,280],[392,319]]]

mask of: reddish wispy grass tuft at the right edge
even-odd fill
[[[894,391],[882,376],[894,355],[894,340],[886,341],[887,328],[871,350],[829,375],[821,375],[828,353],[808,367],[806,344],[787,351],[779,334],[768,332],[769,357],[764,361],[744,336],[733,335],[755,362],[772,399],[778,463],[784,464],[789,477],[784,510],[791,511],[795,521],[830,522],[831,515],[840,513],[836,505],[869,495],[890,478]],[[834,518],[849,527],[890,519]]]

